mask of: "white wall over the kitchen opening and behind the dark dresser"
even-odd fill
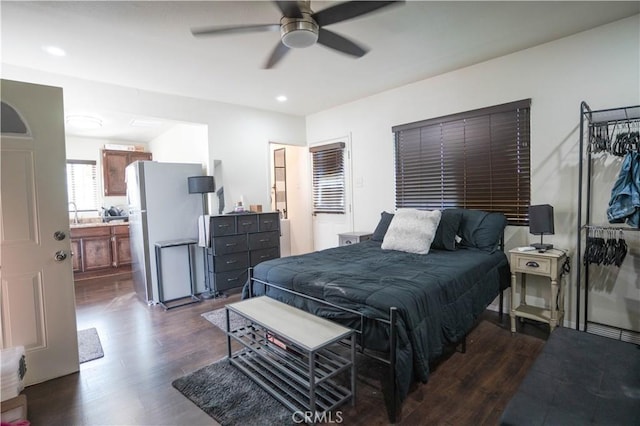
[[[63,88],[65,108],[121,111],[145,117],[201,123],[208,128],[209,158],[222,162],[226,206],[269,204],[269,141],[306,145],[303,117],[81,80],[3,64],[6,79]],[[216,84],[206,82],[204,84]]]

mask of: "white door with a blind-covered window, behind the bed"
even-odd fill
[[[353,231],[353,209],[351,205],[351,138],[333,139],[314,143],[309,146],[311,150],[317,147],[335,146],[344,144],[344,212],[343,213],[318,213],[313,214],[313,248],[314,250],[324,250],[338,246],[338,234]],[[311,154],[310,154],[311,157]],[[312,173],[312,196],[313,196],[313,160],[311,161]],[[313,203],[312,203],[313,204]],[[314,209],[314,206],[311,206]]]

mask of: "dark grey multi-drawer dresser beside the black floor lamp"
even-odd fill
[[[243,213],[211,216],[209,277],[211,289],[242,287],[248,268],[280,257],[280,214]]]

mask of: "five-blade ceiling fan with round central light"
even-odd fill
[[[339,3],[319,12],[311,10],[310,1],[274,1],[283,16],[279,24],[240,25],[226,27],[192,28],[196,37],[225,34],[280,31],[280,42],[271,52],[265,68],[272,68],[290,48],[299,49],[322,44],[354,57],[362,57],[367,49],[355,42],[325,29],[326,25],[357,18],[392,4],[404,1],[349,1]]]

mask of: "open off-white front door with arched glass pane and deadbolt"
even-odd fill
[[[25,385],[78,371],[62,89],[1,81],[0,346],[24,346]]]

